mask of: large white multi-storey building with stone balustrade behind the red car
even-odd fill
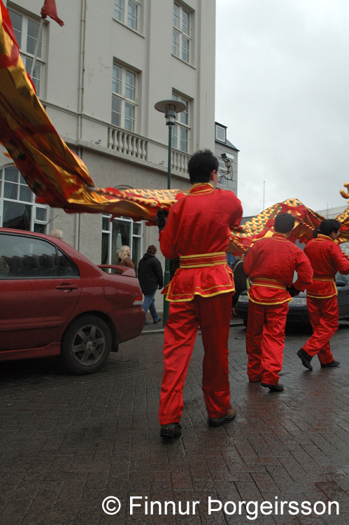
[[[4,3],[30,72],[43,0]],[[215,148],[215,0],[56,0],[56,6],[64,26],[43,22],[32,78],[95,185],[167,188],[169,134],[154,106],[180,99],[187,109],[173,130],[171,187],[189,188],[188,158]],[[158,245],[157,228],[143,223],[35,204],[13,163],[0,155],[0,226],[6,225],[59,228],[97,264],[114,263],[127,244],[137,265],[148,244]]]

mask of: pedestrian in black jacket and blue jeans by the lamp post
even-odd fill
[[[164,277],[161,263],[155,257],[155,253],[157,253],[156,246],[150,244],[138,264],[138,281],[144,294],[143,310],[145,315],[149,309],[153,323],[159,323],[161,319],[155,308],[155,293],[157,289],[161,290],[164,286]],[[145,324],[148,325],[148,321],[145,321]]]

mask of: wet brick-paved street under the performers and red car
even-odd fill
[[[90,376],[63,374],[55,359],[1,363],[0,523],[348,525],[348,335],[343,322],[333,339],[341,367],[324,370],[314,359],[308,372],[295,356],[307,334],[287,333],[285,392],[271,393],[248,383],[245,328],[234,321],[230,374],[238,415],[220,428],[206,422],[198,338],[184,391],[183,437],[173,442],[159,438],[159,325],[120,345]],[[112,495],[122,506],[108,516],[101,503]],[[132,515],[130,496],[142,498]],[[146,497],[173,501],[176,514],[145,514]],[[209,497],[223,505],[336,500],[341,514],[279,510],[252,520],[243,509],[241,516],[209,516]],[[178,514],[179,502],[185,512],[185,502],[196,500],[195,514]]]

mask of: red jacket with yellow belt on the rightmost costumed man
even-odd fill
[[[349,274],[349,260],[332,237],[322,235],[311,239],[304,252],[311,261],[314,270],[313,284],[307,286],[309,297],[333,297],[338,294],[334,276],[336,272]]]

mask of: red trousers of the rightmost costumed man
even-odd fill
[[[337,296],[334,295],[326,299],[307,297],[306,302],[313,335],[309,337],[303,348],[311,357],[317,353],[320,363],[325,365],[333,360],[332,351],[329,348],[329,339],[338,328]]]

